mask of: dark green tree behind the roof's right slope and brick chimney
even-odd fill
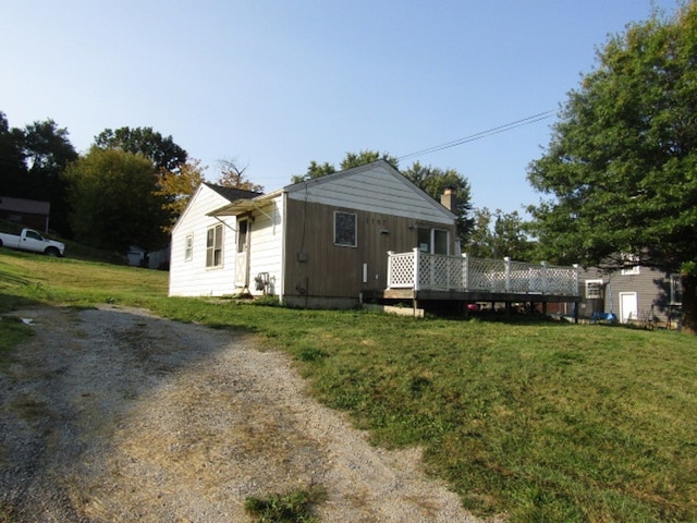
[[[454,169],[442,170],[437,167],[421,166],[418,161],[415,161],[402,174],[436,200],[440,200],[440,196],[447,188],[453,190],[455,194],[453,212],[457,217],[457,235],[461,244],[465,245],[473,227],[470,217],[472,188],[467,179]]]

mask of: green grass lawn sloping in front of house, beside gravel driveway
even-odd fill
[[[697,521],[697,338],[167,299],[167,275],[0,251],[0,311],[145,306],[255,332],[325,403],[478,514],[514,522]],[[0,324],[0,336],[5,336]]]

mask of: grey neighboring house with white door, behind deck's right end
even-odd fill
[[[682,304],[680,276],[637,265],[612,272],[589,268],[579,277],[579,315],[596,318],[612,314],[625,323],[668,325]]]

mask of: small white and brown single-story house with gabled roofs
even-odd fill
[[[456,238],[455,215],[383,160],[265,195],[201,185],[172,232],[170,295],[352,307],[387,288],[389,251],[458,255]]]

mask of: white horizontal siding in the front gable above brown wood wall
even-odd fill
[[[452,224],[453,217],[438,202],[388,167],[352,169],[337,175],[289,187],[289,197],[309,203],[381,212]]]

